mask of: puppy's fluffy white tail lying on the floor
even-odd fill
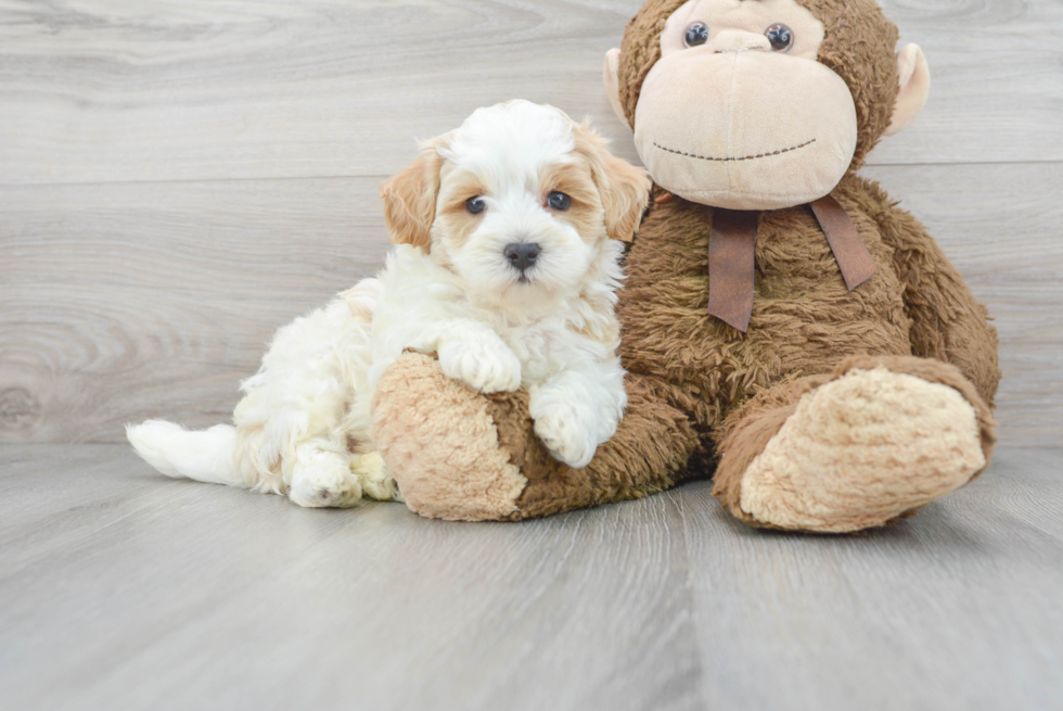
[[[190,432],[180,424],[149,420],[127,426],[126,436],[144,461],[167,477],[247,486],[236,469],[236,428],[231,424]]]

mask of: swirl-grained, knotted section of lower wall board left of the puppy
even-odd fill
[[[0,188],[0,442],[228,420],[273,331],[383,265],[377,182]]]

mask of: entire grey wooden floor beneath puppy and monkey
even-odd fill
[[[521,524],[0,447],[0,707],[1060,709],[1063,453],[857,537],[697,483]]]

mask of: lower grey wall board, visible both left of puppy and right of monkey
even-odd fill
[[[1060,446],[1063,164],[867,174],[997,318],[1004,442]],[[380,180],[0,187],[0,442],[228,419],[272,331],[382,264]]]

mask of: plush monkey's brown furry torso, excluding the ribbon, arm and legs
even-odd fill
[[[710,208],[679,200],[656,207],[628,256],[620,292],[625,368],[664,378],[671,404],[710,429],[783,379],[830,372],[854,354],[911,355],[893,251],[858,203],[844,205],[876,274],[849,292],[808,206],[763,213],[746,333],[707,310]]]

